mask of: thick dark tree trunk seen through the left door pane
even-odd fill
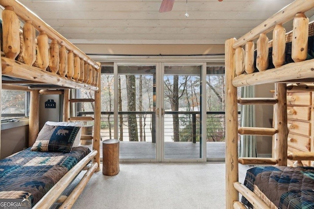
[[[128,97],[128,111],[136,111],[136,88],[135,88],[135,76],[128,75],[127,77],[127,97]],[[129,125],[129,140],[138,141],[137,122],[136,115],[128,115]]]

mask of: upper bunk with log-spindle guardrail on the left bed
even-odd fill
[[[100,63],[19,1],[0,0],[0,5],[4,8],[1,28],[3,89],[98,90]]]

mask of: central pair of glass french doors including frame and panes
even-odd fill
[[[120,160],[206,161],[204,79],[206,63],[115,63]]]

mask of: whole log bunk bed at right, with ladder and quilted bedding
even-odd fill
[[[301,164],[301,160],[314,160],[314,153],[287,152],[287,84],[293,83],[289,87],[293,90],[313,91],[314,24],[309,26],[305,16],[313,7],[314,0],[295,0],[238,40],[225,42],[227,209],[314,208],[314,168]],[[286,33],[282,25],[290,20],[293,30]],[[268,41],[265,34],[271,31],[273,40]],[[274,98],[237,99],[237,87],[264,83],[275,84]],[[274,105],[273,128],[238,128],[237,103]],[[272,157],[238,158],[238,134],[273,136]],[[287,159],[297,163],[288,167]],[[238,163],[256,165],[247,171],[244,184],[238,182]]]

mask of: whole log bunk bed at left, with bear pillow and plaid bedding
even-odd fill
[[[78,148],[73,147],[72,149],[72,145],[69,145],[71,149],[68,153],[58,151],[52,153],[50,145],[48,145],[49,152],[33,152],[28,148],[12,155],[11,158],[2,159],[0,161],[0,198],[12,198],[6,196],[6,192],[10,191],[10,189],[6,188],[7,184],[15,184],[15,181],[19,179],[20,175],[28,173],[29,176],[24,178],[24,181],[29,178],[35,184],[29,186],[31,188],[30,191],[22,190],[23,195],[20,194],[19,196],[18,194],[18,197],[23,197],[31,201],[33,208],[50,208],[55,202],[62,203],[60,208],[71,208],[93,173],[100,170],[100,63],[93,61],[19,1],[0,0],[0,5],[4,8],[2,11],[0,65],[2,79],[0,81],[0,88],[5,90],[30,91],[29,147],[32,147],[36,143],[37,135],[39,137],[41,134],[39,132],[38,115],[40,94],[63,94],[64,122],[94,120],[93,135],[82,135],[80,138],[81,140],[93,139],[93,151],[86,150],[86,148],[83,149],[82,146]],[[23,23],[23,29],[21,23]],[[36,33],[38,34],[37,37],[35,37]],[[95,92],[95,98],[88,100],[70,99],[70,89],[92,90]],[[75,102],[94,102],[94,118],[70,117],[69,106],[70,103]],[[57,126],[55,127],[58,128]],[[60,127],[64,128],[65,126],[61,125]],[[66,127],[68,128],[69,126]],[[79,130],[79,128],[70,127],[72,130]],[[61,130],[57,134],[65,135],[67,131]],[[76,134],[77,132],[75,132]],[[21,153],[27,150],[28,153],[23,156]],[[71,153],[79,156],[78,159],[68,156]],[[65,158],[53,160],[50,158],[50,154],[52,156],[59,154],[57,157],[61,155],[61,157]],[[23,165],[17,165],[15,161],[13,161],[13,165],[9,164],[13,158],[18,156],[22,156],[21,158],[17,158],[17,161],[23,161]],[[41,159],[41,157],[45,158],[46,162],[49,161],[49,163],[46,163],[48,167],[42,167],[41,171],[37,174],[29,173],[34,169],[35,164],[45,164],[44,161],[35,160]],[[24,162],[27,158],[30,158],[30,161]],[[62,195],[62,192],[82,170],[87,171],[75,189],[68,196]],[[61,173],[56,177],[55,174],[58,174],[59,171]],[[11,179],[5,182],[4,177],[8,174],[10,174]],[[33,176],[45,177],[46,179],[43,180],[45,184],[38,183],[40,180],[34,179]],[[52,179],[52,181],[48,182],[48,179],[49,181]],[[22,183],[29,184],[29,182]],[[38,190],[43,192],[43,194],[35,197],[35,194],[32,194],[34,187],[38,187]],[[28,193],[26,194],[26,192]]]

